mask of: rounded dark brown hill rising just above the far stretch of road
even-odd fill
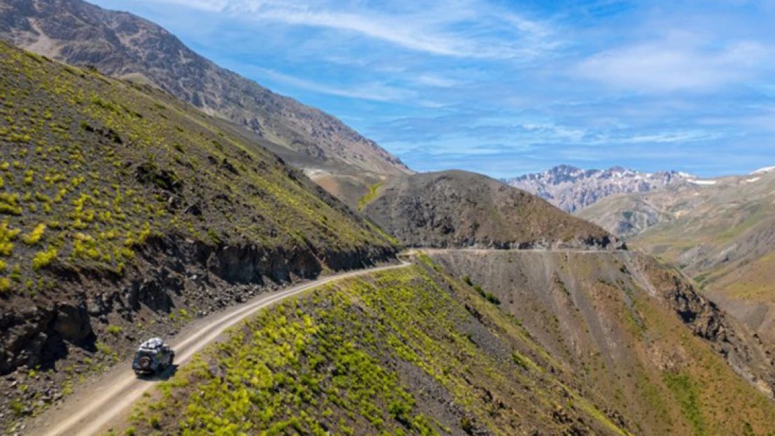
[[[415,247],[613,248],[607,232],[498,180],[464,171],[391,180],[363,213]]]

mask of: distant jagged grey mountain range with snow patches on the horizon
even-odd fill
[[[639,173],[622,167],[581,170],[560,165],[545,173],[525,174],[505,182],[573,213],[613,194],[660,190],[690,177],[677,171]]]

